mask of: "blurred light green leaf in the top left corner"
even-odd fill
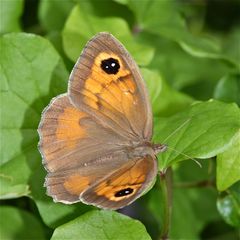
[[[23,0],[1,1],[0,34],[21,30],[19,19],[23,12]]]

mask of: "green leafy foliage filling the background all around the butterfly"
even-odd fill
[[[100,31],[115,35],[141,67],[154,141],[169,145],[158,161],[160,171],[173,168],[170,239],[238,239],[239,1],[0,4],[0,239],[159,239],[158,182],[120,213],[53,203],[45,195],[41,112],[66,92],[74,62]]]

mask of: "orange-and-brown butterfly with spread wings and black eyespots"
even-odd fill
[[[38,128],[39,151],[55,202],[119,209],[139,198],[157,175],[153,120],[139,68],[110,33],[86,44],[68,92],[53,98]]]

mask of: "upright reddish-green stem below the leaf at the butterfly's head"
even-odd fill
[[[168,168],[164,172],[159,172],[160,189],[163,196],[163,215],[160,239],[168,239],[172,213],[172,169]]]

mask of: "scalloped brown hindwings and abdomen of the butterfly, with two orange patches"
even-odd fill
[[[45,185],[55,201],[79,201],[83,190],[127,161],[124,137],[75,108],[66,95],[51,101],[38,132]]]

